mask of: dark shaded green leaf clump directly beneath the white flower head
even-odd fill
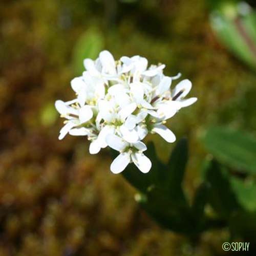
[[[142,174],[134,165],[122,173],[140,191],[136,199],[145,211],[161,226],[190,237],[206,227],[215,227],[215,220],[204,213],[209,186],[206,183],[199,186],[191,206],[182,188],[188,159],[187,140],[177,143],[167,164],[157,158],[153,143],[148,144],[147,152],[152,161],[150,173]]]

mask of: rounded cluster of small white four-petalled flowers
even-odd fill
[[[152,164],[143,154],[146,145],[141,140],[157,133],[174,142],[175,135],[164,126],[166,119],[197,101],[184,99],[192,86],[189,80],[170,90],[180,74],[168,77],[163,74],[165,65],[147,65],[147,59],[140,56],[115,61],[109,51],[100,52],[95,61],[84,59],[86,71],[71,81],[77,97],[55,102],[61,117],[67,119],[59,139],[68,133],[87,136],[91,154],[106,146],[120,152],[111,164],[113,173],[122,172],[130,162],[147,173]]]

